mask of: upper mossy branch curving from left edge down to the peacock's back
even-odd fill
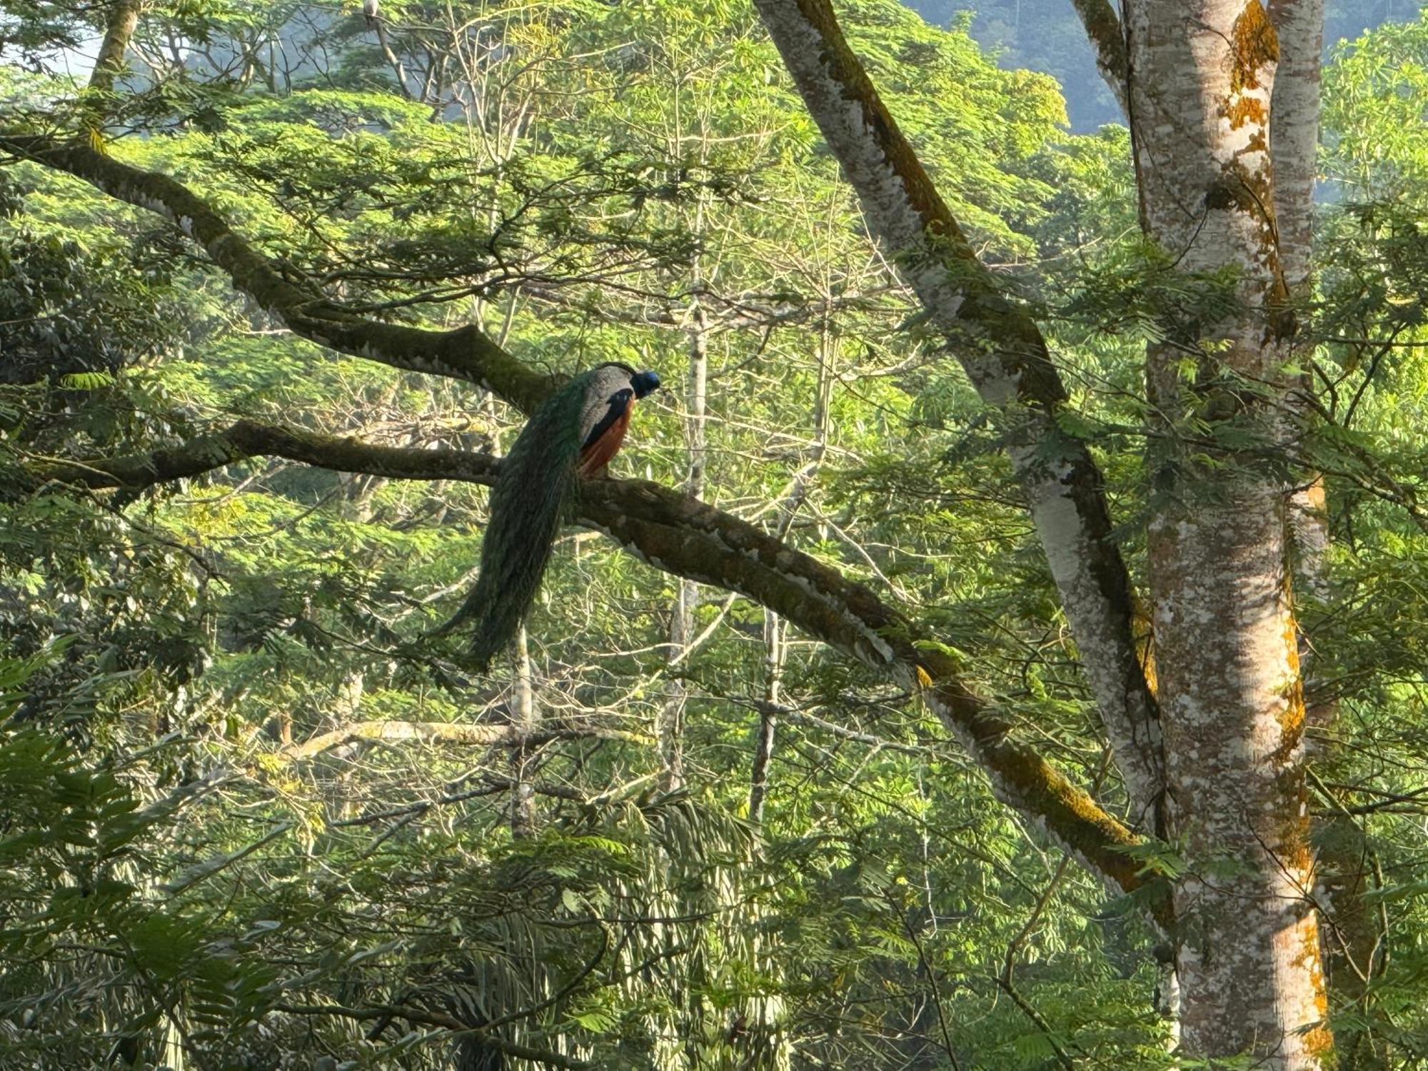
[[[49,137],[0,133],[0,150],[67,171],[110,197],[173,220],[228,273],[234,287],[320,346],[394,368],[477,383],[527,413],[550,391],[548,377],[531,371],[474,326],[430,331],[368,320],[290,281],[207,201],[167,176],[131,167],[87,144]]]

